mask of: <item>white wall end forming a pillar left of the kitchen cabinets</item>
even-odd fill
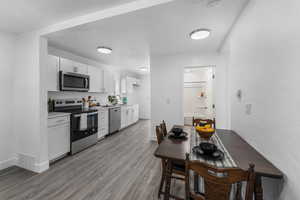
[[[45,42],[42,46],[46,48]],[[19,35],[13,74],[13,132],[17,137],[18,165],[36,172],[48,168],[43,147],[47,133],[41,132],[45,130],[41,127],[41,120],[45,120],[41,109],[45,106],[41,96],[40,47],[38,34]]]

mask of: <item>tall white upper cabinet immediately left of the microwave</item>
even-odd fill
[[[47,57],[47,90],[59,90],[59,57],[48,55]]]

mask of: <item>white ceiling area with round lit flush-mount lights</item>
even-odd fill
[[[149,67],[152,54],[216,52],[248,0],[205,0],[171,3],[103,19],[48,35],[49,44],[105,64],[136,70]],[[194,41],[189,33],[210,29],[211,36]],[[97,46],[113,49],[99,54]]]

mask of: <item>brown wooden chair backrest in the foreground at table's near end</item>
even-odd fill
[[[190,171],[204,179],[204,195],[196,194],[190,189]],[[246,181],[245,200],[253,200],[255,172],[250,164],[247,171],[239,168],[216,168],[199,161],[190,161],[186,155],[186,199],[195,200],[229,200],[232,184]]]

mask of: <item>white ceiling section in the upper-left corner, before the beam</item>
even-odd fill
[[[0,0],[0,30],[32,31],[134,0]]]

